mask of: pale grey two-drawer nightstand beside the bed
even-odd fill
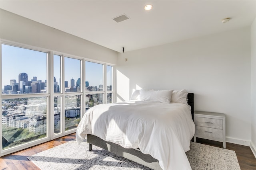
[[[223,142],[226,148],[226,116],[223,113],[207,111],[195,111],[194,123],[196,125],[196,137]]]

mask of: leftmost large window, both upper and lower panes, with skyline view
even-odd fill
[[[1,47],[1,138],[6,150],[48,136],[48,53]]]

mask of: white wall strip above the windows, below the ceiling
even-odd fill
[[[116,64],[116,51],[2,9],[0,9],[0,38]]]

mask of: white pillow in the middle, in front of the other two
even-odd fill
[[[140,90],[140,100],[170,103],[173,90]]]

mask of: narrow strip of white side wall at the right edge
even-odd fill
[[[252,68],[252,142],[251,149],[256,157],[256,18],[251,25],[251,68]]]

